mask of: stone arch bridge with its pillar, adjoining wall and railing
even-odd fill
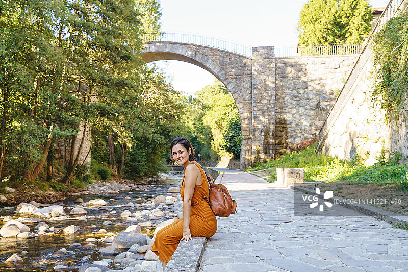
[[[359,47],[343,46],[342,52],[334,52],[326,46],[276,48],[275,54],[272,46],[250,48],[174,33],[149,34],[144,41],[144,62],[179,60],[197,65],[231,92],[244,138],[241,170],[317,138],[342,77],[359,53]]]

